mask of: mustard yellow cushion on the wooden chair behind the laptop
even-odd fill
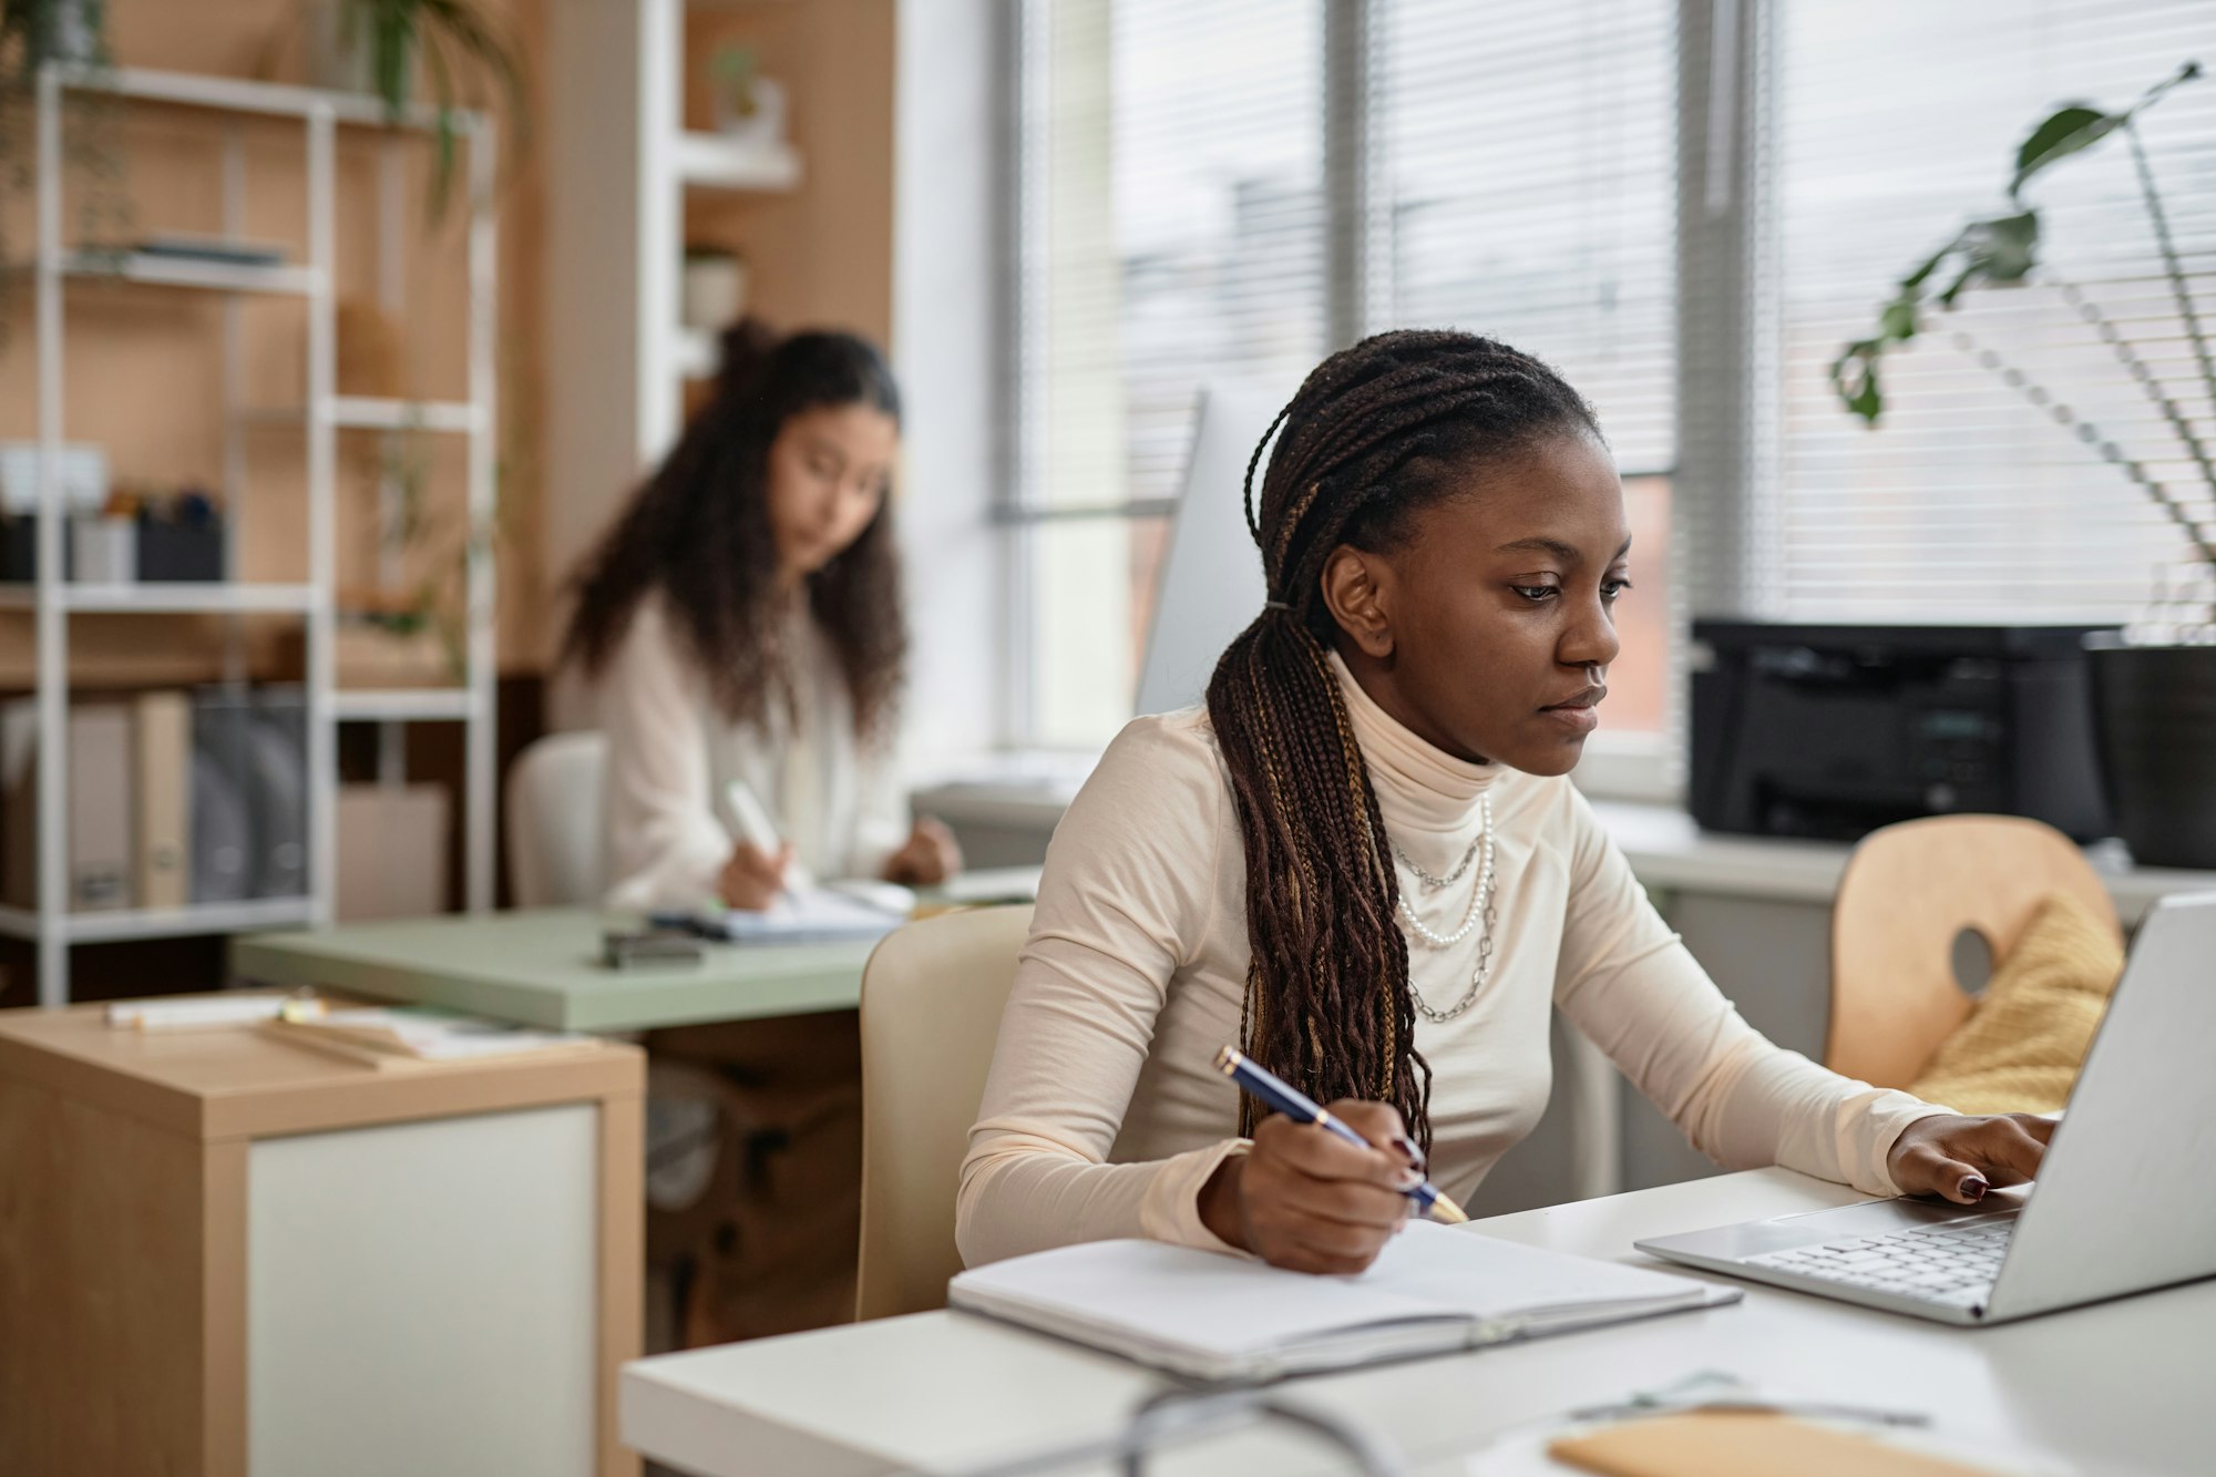
[[[2123,949],[2083,903],[2043,898],[1908,1091],[1957,1113],[2059,1111],[2121,974]]]

